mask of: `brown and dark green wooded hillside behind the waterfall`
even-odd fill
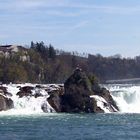
[[[0,47],[0,81],[3,83],[63,83],[76,67],[82,68],[91,81],[140,77],[140,57],[126,59],[101,55],[80,56],[56,50],[51,44],[31,42],[18,51]],[[96,76],[95,76],[96,75]]]

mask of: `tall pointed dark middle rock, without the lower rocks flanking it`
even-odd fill
[[[64,83],[62,112],[103,112],[96,101],[90,98],[93,94],[91,83],[86,74],[79,68]]]

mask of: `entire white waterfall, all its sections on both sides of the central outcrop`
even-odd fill
[[[50,106],[47,101],[49,97],[48,92],[56,90],[58,85],[41,85],[45,88],[37,88],[35,84],[8,84],[3,85],[7,88],[7,92],[10,94],[4,95],[11,98],[14,103],[14,108],[8,111],[1,111],[0,114],[42,114],[42,106],[45,107],[45,112],[55,112],[55,110]],[[24,96],[20,98],[17,93],[20,91],[20,87],[30,86],[34,87],[31,96]],[[113,99],[115,100],[120,112],[122,113],[140,113],[140,85],[105,85],[105,87],[110,91]],[[46,91],[49,89],[49,91]],[[35,94],[39,93],[41,96],[35,97]],[[92,95],[97,101],[97,106],[100,107],[104,112],[111,113],[112,111],[107,104],[107,101],[98,95]],[[113,106],[112,106],[113,107]]]

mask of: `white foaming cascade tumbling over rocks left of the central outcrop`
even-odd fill
[[[36,92],[40,93],[42,96],[35,98],[34,96],[27,96],[19,98],[16,94],[19,92],[19,87],[23,86],[31,86],[35,87],[33,84],[10,84],[10,85],[4,85],[4,87],[7,87],[7,91],[12,94],[12,96],[8,96],[11,98],[14,102],[14,108],[10,109],[8,111],[2,111],[0,115],[6,114],[6,115],[30,115],[30,114],[41,114],[43,113],[43,110],[41,109],[41,106],[45,104],[47,112],[55,112],[54,109],[49,105],[47,102],[47,98],[49,97],[48,93],[45,91],[45,89],[34,89],[32,90],[32,95],[34,95]]]

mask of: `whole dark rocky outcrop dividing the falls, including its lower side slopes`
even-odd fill
[[[96,95],[101,98],[102,108],[98,106]],[[76,69],[66,80],[64,93],[57,91],[50,93],[48,102],[57,112],[103,113],[104,109],[110,112],[118,110],[109,91],[97,83],[92,85],[81,69]]]

